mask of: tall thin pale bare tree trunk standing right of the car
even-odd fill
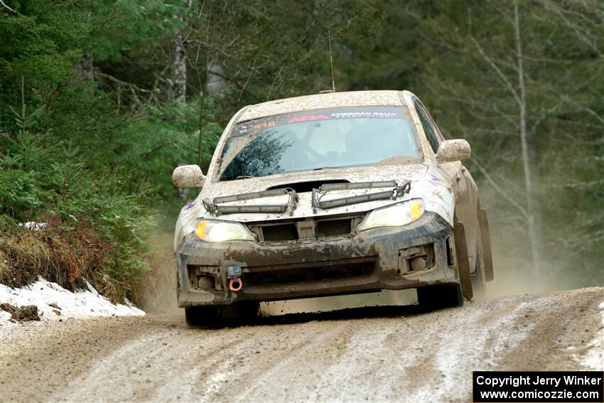
[[[536,274],[539,264],[539,239],[536,231],[536,208],[533,198],[531,180],[531,166],[529,163],[529,144],[527,140],[527,98],[524,85],[524,60],[522,56],[522,41],[520,36],[520,21],[518,14],[518,1],[514,0],[514,36],[516,41],[516,56],[518,63],[519,94],[519,126],[520,144],[522,146],[522,168],[524,171],[524,188],[527,196],[527,224],[529,225],[529,240],[531,243],[532,272]]]

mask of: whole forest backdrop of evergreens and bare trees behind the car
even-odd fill
[[[4,0],[0,282],[136,299],[150,235],[195,196],[173,168],[205,171],[242,105],[330,89],[331,37],[336,90],[412,90],[470,141],[502,270],[601,285],[603,18],[599,0]]]

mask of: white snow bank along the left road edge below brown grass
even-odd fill
[[[21,289],[11,289],[0,284],[0,303],[13,306],[36,305],[42,321],[86,316],[142,316],[141,311],[128,300],[124,304],[111,303],[99,295],[90,284],[88,290],[71,292],[56,283],[38,277],[38,281]],[[58,306],[50,306],[53,304]],[[60,308],[60,309],[59,309]],[[57,313],[58,312],[58,313]],[[0,309],[0,325],[13,324],[11,314]]]

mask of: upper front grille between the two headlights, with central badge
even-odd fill
[[[313,240],[352,234],[364,215],[347,215],[320,219],[289,220],[287,222],[252,222],[249,229],[260,242]]]

